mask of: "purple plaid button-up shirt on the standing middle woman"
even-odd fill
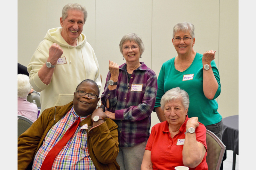
[[[128,82],[126,63],[119,67],[115,90],[108,89],[110,72],[106,79],[101,102],[110,107],[106,110],[115,113],[118,125],[118,141],[121,147],[140,144],[149,137],[151,113],[156,102],[157,77],[153,70],[140,62],[139,68],[132,72]]]

